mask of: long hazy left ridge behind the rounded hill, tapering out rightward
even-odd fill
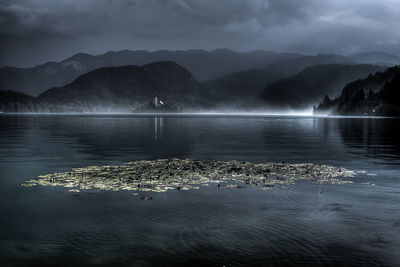
[[[101,55],[79,53],[60,62],[48,62],[32,68],[0,68],[0,90],[13,90],[38,95],[44,90],[63,86],[79,75],[100,67],[145,65],[157,61],[173,61],[187,68],[200,81],[252,68],[264,68],[299,54],[270,51],[235,52],[227,49],[213,51],[188,50],[149,52],[122,50]]]

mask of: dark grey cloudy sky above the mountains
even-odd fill
[[[0,66],[77,52],[400,54],[399,0],[0,0]]]

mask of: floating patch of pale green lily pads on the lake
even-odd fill
[[[343,184],[354,171],[311,163],[261,163],[191,159],[140,160],[121,166],[89,166],[52,173],[28,180],[22,186],[62,186],[80,190],[132,190],[165,192],[199,189],[199,186],[243,188],[257,186],[268,190],[288,186],[298,180],[312,183]]]

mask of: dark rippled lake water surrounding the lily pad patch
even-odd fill
[[[0,114],[0,264],[399,266],[400,119]],[[317,163],[351,184],[151,193],[21,187],[164,158]]]

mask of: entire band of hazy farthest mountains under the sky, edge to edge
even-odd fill
[[[32,96],[51,87],[64,86],[80,75],[101,67],[145,65],[157,61],[173,61],[188,69],[200,82],[220,78],[234,72],[263,69],[282,77],[292,76],[306,67],[321,64],[381,65],[400,64],[400,58],[382,52],[341,56],[318,54],[314,56],[296,53],[275,53],[265,50],[236,52],[227,49],[213,51],[145,50],[110,51],[100,55],[79,53],[60,62],[47,62],[31,68],[0,68],[0,91],[12,90]]]

